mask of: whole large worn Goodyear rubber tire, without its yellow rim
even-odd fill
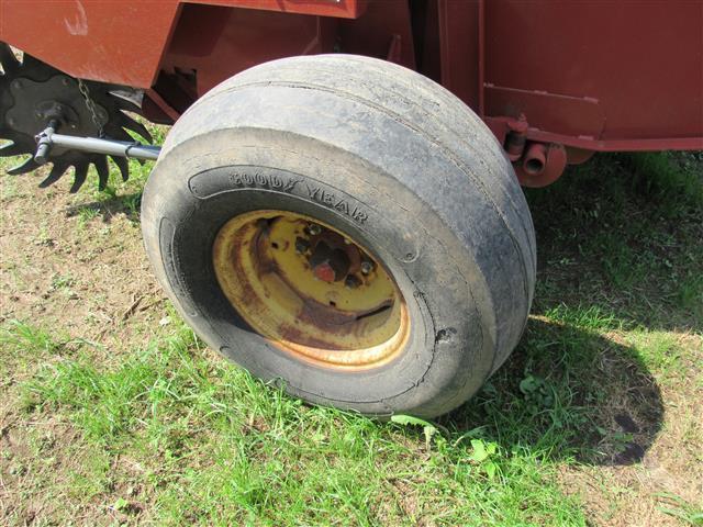
[[[212,247],[257,209],[317,218],[382,261],[411,319],[397,358],[311,366],[244,322]],[[468,400],[516,346],[534,292],[529,211],[489,128],[432,80],[366,57],[276,60],[207,93],[166,139],[142,228],[160,283],[211,347],[294,396],[376,416]]]

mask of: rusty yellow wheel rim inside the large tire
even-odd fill
[[[408,310],[391,274],[323,222],[274,210],[242,214],[220,229],[212,258],[233,307],[298,359],[377,368],[408,340]]]

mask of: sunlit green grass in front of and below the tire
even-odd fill
[[[41,329],[13,341],[15,354],[36,350],[48,360],[22,384],[24,415],[60,412],[103,452],[82,468],[90,478],[76,475],[83,493],[108,491],[100,481],[115,459],[141,463],[137,494],[120,503],[148,501],[166,524],[584,525],[549,481],[550,445],[477,442],[493,425],[425,441],[422,428],[306,407],[213,361],[185,326],[113,370],[80,351],[51,360],[62,345]],[[494,451],[477,457],[483,445]]]

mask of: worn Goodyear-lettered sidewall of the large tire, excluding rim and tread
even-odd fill
[[[322,194],[313,198],[311,189]],[[383,262],[411,318],[398,358],[370,370],[325,369],[248,327],[217,283],[212,245],[228,220],[263,209],[319,218]],[[212,348],[256,377],[284,380],[297,396],[366,414],[433,416],[468,399],[490,374],[494,343],[468,287],[476,270],[466,249],[416,195],[364,159],[284,132],[209,132],[159,159],[142,210],[149,259],[187,322]]]

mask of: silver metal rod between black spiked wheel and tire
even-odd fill
[[[108,156],[130,157],[133,159],[156,160],[161,152],[160,146],[143,145],[140,142],[99,139],[96,137],[77,137],[55,133],[55,126],[49,126],[37,135],[37,150],[34,159],[44,164],[48,157],[48,149],[54,146],[69,150],[105,154]]]

